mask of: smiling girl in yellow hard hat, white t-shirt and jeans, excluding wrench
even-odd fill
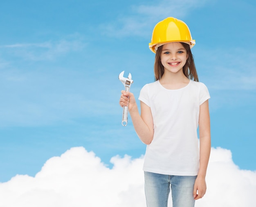
[[[194,45],[181,20],[169,17],[157,23],[149,44],[156,53],[156,81],[141,89],[141,115],[134,95],[121,92],[119,104],[128,106],[135,131],[147,145],[143,167],[147,207],[167,207],[170,190],[173,207],[194,207],[206,192],[210,96],[198,82],[190,50]]]

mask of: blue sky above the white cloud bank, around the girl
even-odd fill
[[[256,2],[253,0],[3,0],[0,2],[0,182],[34,176],[83,146],[109,165],[145,152],[121,125],[121,71],[138,97],[154,81],[153,27],[188,24],[199,80],[211,95],[212,146],[256,170]],[[138,102],[139,103],[139,102]]]

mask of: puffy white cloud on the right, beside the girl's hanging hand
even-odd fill
[[[230,150],[212,149],[207,172],[207,194],[198,207],[251,207],[255,205],[256,172],[240,170]]]

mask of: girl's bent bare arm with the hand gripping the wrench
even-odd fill
[[[153,140],[153,118],[150,107],[141,101],[141,115],[139,115],[138,106],[135,97],[131,92],[121,91],[120,106],[127,106],[129,103],[129,113],[132,118],[132,123],[139,139],[146,145]]]

